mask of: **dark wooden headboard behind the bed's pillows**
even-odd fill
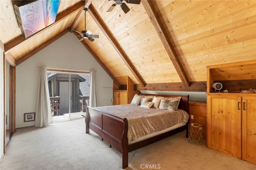
[[[139,95],[140,96],[158,96],[158,97],[181,97],[178,109],[182,109],[189,114],[189,109],[188,109],[189,95],[159,95],[159,94],[143,94],[143,93],[140,93]]]

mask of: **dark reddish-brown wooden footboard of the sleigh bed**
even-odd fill
[[[122,154],[122,168],[128,167],[128,121],[87,107],[85,116],[86,133],[90,129],[111,144]]]

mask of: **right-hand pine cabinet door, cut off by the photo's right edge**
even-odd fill
[[[256,97],[243,97],[242,106],[242,159],[256,164]]]

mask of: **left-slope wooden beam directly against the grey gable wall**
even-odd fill
[[[29,53],[26,53],[25,55],[23,55],[22,57],[20,57],[19,59],[16,60],[16,65],[19,65],[20,63],[22,63],[26,59],[30,58],[35,53],[37,53],[40,50],[42,50],[44,47],[48,46],[50,43],[52,43],[55,40],[57,40],[58,38],[62,37],[64,34],[69,32],[69,30],[70,30],[70,28],[66,28],[65,30],[63,30],[62,32],[60,32],[59,34],[57,34],[56,36],[54,36],[53,38],[51,38],[47,42],[42,43],[41,45],[39,45],[38,47],[36,47],[32,51],[30,51]]]

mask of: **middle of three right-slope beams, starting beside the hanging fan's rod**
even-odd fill
[[[138,80],[140,85],[142,87],[145,87],[146,83],[144,79],[139,75],[138,71],[136,71],[135,67],[132,65],[132,62],[129,60],[128,56],[122,49],[121,45],[117,42],[116,38],[114,38],[113,34],[110,32],[106,24],[103,22],[102,18],[100,15],[96,12],[94,6],[91,4],[89,6],[88,12],[96,22],[96,24],[100,27],[100,30],[104,33],[106,38],[109,40],[109,42],[112,44],[114,49],[116,49],[117,53],[120,55],[124,63],[126,63],[127,67],[130,69],[134,77]]]

